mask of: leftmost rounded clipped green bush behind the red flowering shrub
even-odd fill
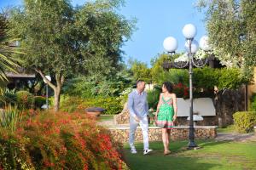
[[[19,91],[17,92],[17,105],[19,108],[32,108],[34,98],[33,95],[27,91]]]

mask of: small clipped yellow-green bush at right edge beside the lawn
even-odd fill
[[[236,130],[240,133],[249,133],[256,125],[256,112],[255,111],[241,111],[236,112],[234,115]]]

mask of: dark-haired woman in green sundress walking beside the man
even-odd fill
[[[172,93],[172,83],[164,82],[162,93],[160,94],[159,103],[155,115],[156,124],[162,127],[162,139],[165,147],[164,155],[171,153],[169,150],[169,139],[173,122],[177,118],[177,99],[176,94]]]

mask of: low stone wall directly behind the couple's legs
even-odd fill
[[[119,143],[127,143],[129,139],[129,127],[109,128],[113,139]],[[195,127],[195,139],[214,139],[217,135],[216,127]],[[189,138],[189,127],[174,127],[171,131],[172,140],[184,140]],[[140,127],[137,127],[135,133],[136,141],[143,141],[143,133]],[[149,141],[161,141],[161,128],[148,127]]]

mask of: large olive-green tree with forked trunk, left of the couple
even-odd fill
[[[119,66],[120,47],[134,22],[117,13],[119,0],[87,2],[74,8],[68,0],[25,0],[11,12],[12,33],[26,48],[24,67],[37,71],[54,90],[59,110],[61,88],[73,75],[109,74]],[[49,82],[45,75],[54,75]]]

